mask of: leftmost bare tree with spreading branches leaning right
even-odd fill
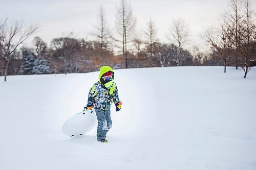
[[[25,27],[22,21],[17,21],[14,25],[8,26],[6,19],[5,24],[1,28],[2,39],[0,42],[1,48],[3,49],[3,57],[5,59],[5,81],[7,81],[7,71],[13,56],[12,54],[16,51],[17,47],[35,33],[38,28],[38,26]]]

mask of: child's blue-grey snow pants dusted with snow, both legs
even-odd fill
[[[95,109],[95,111],[98,119],[97,139],[100,141],[101,139],[106,138],[106,133],[112,127],[112,120],[110,117],[110,109]]]

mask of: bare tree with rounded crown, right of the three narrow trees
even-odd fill
[[[169,28],[169,35],[167,39],[176,44],[179,47],[180,55],[177,58],[177,63],[180,64],[183,56],[184,45],[188,42],[188,24],[182,18],[174,19],[172,25]]]

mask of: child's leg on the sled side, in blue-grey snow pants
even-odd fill
[[[106,118],[104,110],[101,109],[95,109],[96,116],[98,119],[98,128],[97,128],[97,140],[100,141],[101,139],[106,138],[106,132],[108,132]]]

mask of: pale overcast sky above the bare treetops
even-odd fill
[[[127,0],[131,3],[137,20],[136,30],[143,30],[150,17],[156,23],[157,37],[167,42],[166,35],[173,19],[184,18],[189,25],[190,44],[188,48],[205,42],[199,37],[204,28],[218,23],[221,13],[228,10],[229,0]],[[90,35],[97,23],[99,7],[102,5],[106,18],[114,28],[116,7],[120,0],[0,0],[0,20],[9,17],[10,21],[23,20],[37,23],[40,31],[34,36],[41,37],[50,44],[51,39],[67,35],[71,31],[76,38],[92,39]],[[253,8],[256,1],[251,1]],[[33,37],[34,37],[33,36]],[[143,37],[141,37],[143,38]],[[31,39],[26,42],[28,45]]]

